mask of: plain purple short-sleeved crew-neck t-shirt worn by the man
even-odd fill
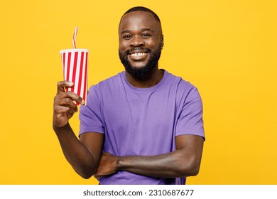
[[[154,156],[175,151],[175,136],[205,137],[202,100],[193,85],[166,70],[158,85],[133,87],[125,72],[89,88],[80,108],[80,134],[104,134],[103,151],[114,156]],[[185,178],[151,178],[127,171],[101,184],[185,184]]]

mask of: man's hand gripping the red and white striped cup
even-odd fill
[[[85,104],[85,101],[74,92],[65,92],[65,87],[72,87],[73,82],[61,81],[57,84],[57,95],[54,98],[53,129],[65,127],[68,120],[78,111],[73,102]]]

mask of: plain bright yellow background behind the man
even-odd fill
[[[200,174],[188,184],[277,184],[276,1],[4,1],[0,18],[0,184],[94,184],[65,160],[52,129],[59,50],[89,48],[89,85],[124,68],[117,26],[132,6],[160,16],[160,68],[204,104]],[[71,119],[76,133],[77,115]]]

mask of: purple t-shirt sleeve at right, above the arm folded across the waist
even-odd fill
[[[192,87],[188,94],[183,95],[181,104],[183,107],[180,107],[175,136],[191,134],[205,139],[202,99],[196,87]]]

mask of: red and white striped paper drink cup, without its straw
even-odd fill
[[[66,91],[75,92],[87,102],[87,49],[60,50],[63,63],[63,77],[65,81],[74,82],[73,87]],[[79,105],[78,102],[76,102]],[[87,103],[86,103],[87,104]]]

